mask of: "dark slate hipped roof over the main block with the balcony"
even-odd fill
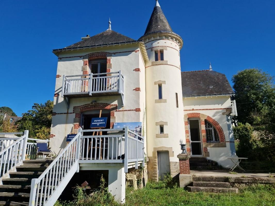
[[[126,37],[122,34],[119,34],[113,30],[106,30],[104,32],[101,32],[100,34],[84,39],[70,46],[66,46],[65,48],[75,48],[75,47],[120,43],[120,42],[128,42],[128,41],[135,41],[135,40],[130,37]]]

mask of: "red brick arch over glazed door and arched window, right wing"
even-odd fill
[[[212,117],[208,116],[208,115],[205,115],[205,114],[202,114],[202,113],[197,113],[197,112],[194,112],[194,113],[188,113],[188,114],[185,114],[184,115],[184,121],[185,121],[185,125],[188,126],[188,118],[200,118],[200,124],[204,126],[204,120],[206,119],[209,123],[211,123],[215,129],[217,130],[218,134],[219,134],[219,139],[220,139],[220,142],[225,142],[225,136],[224,136],[224,132],[222,130],[222,127],[219,125],[219,123],[213,119]],[[186,140],[188,138],[189,140],[189,132],[185,132],[186,133]],[[202,133],[204,134],[205,133],[205,128],[202,128]]]

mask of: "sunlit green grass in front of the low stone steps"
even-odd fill
[[[183,188],[143,188],[126,191],[125,206],[274,206],[275,185],[256,185],[238,194],[190,193]]]

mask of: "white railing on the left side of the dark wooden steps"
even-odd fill
[[[20,138],[15,138],[12,144],[0,152],[0,184],[3,177],[9,177],[9,172],[14,171],[15,167],[21,165],[25,160],[25,150],[29,131],[0,133],[0,134],[23,134]]]

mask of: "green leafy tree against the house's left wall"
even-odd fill
[[[23,113],[22,119],[16,122],[19,131],[29,130],[32,138],[47,139],[50,135],[53,101],[44,104],[34,103],[32,110]]]

